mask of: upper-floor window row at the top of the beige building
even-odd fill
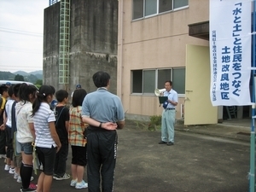
[[[187,7],[189,0],[133,0],[132,20]]]

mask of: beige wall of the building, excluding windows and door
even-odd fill
[[[189,37],[188,27],[209,20],[208,7],[208,1],[189,0],[187,9],[132,20],[132,0],[119,0],[118,95],[126,117],[147,119],[161,114],[157,96],[131,94],[131,70],[185,67],[186,44],[208,46],[206,40]],[[164,88],[164,84],[159,88]],[[180,97],[178,102],[180,119],[184,98]]]

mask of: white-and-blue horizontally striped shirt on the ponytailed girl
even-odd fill
[[[41,148],[56,147],[56,143],[50,135],[49,122],[55,121],[55,114],[49,108],[49,104],[41,102],[38,111],[33,116],[36,131],[36,146]]]

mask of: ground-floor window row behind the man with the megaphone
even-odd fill
[[[131,71],[131,93],[154,94],[156,88],[165,88],[166,80],[172,80],[172,88],[185,94],[185,68],[168,68]]]

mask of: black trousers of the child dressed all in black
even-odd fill
[[[61,142],[61,149],[56,154],[55,159],[55,174],[58,176],[63,176],[66,172],[66,162],[68,154],[68,143]]]

